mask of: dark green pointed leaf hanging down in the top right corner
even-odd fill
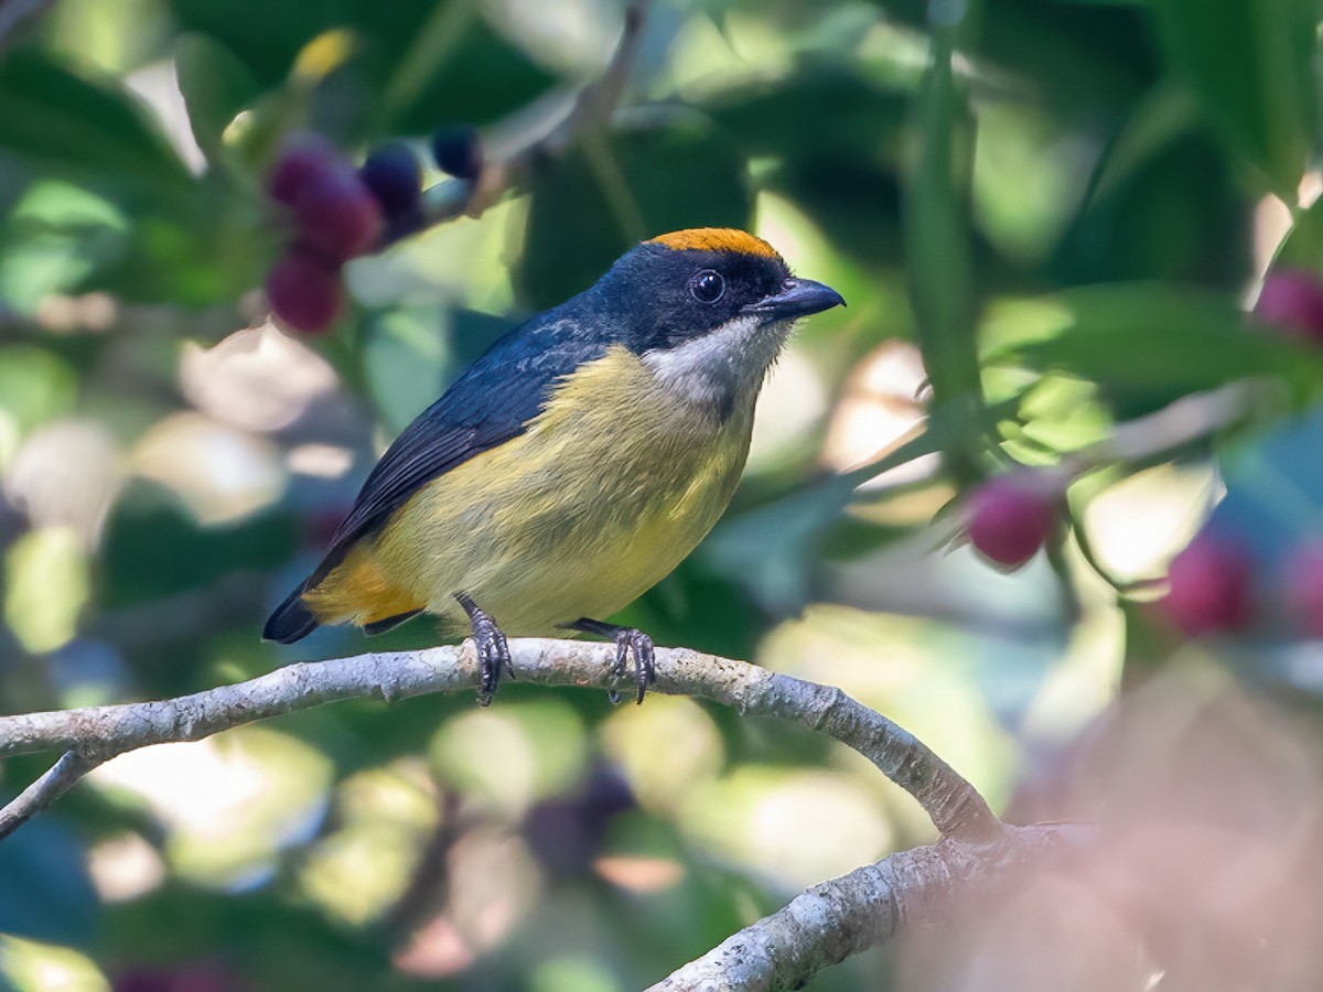
[[[1204,112],[1287,202],[1314,144],[1314,0],[1152,0],[1171,62]]]

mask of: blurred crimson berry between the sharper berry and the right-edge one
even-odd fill
[[[1167,569],[1163,611],[1191,636],[1240,630],[1250,622],[1252,571],[1240,544],[1200,534]]]

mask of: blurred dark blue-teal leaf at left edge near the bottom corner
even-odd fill
[[[86,946],[99,910],[83,850],[57,821],[37,817],[0,844],[0,932]]]

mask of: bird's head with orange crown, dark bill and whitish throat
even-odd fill
[[[796,317],[845,303],[791,275],[762,238],[725,227],[646,241],[590,294],[663,385],[726,413],[757,395]]]

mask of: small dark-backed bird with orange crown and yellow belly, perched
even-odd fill
[[[380,634],[434,614],[472,631],[486,705],[501,671],[513,677],[507,634],[593,634],[615,640],[615,677],[632,653],[642,702],[652,641],[599,618],[717,522],[791,327],[836,306],[840,294],[741,230],[635,246],[499,339],[405,429],[263,636]]]

